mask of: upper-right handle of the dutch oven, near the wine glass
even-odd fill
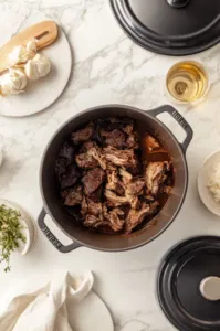
[[[157,117],[159,114],[163,113],[168,113],[182,127],[185,132],[187,134],[187,137],[182,143],[180,143],[184,152],[186,152],[192,137],[193,137],[193,131],[190,127],[190,125],[186,121],[186,119],[171,106],[165,105],[161,107],[158,107],[156,109],[148,110],[151,116]]]

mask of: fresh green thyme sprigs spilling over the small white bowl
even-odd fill
[[[6,273],[11,269],[11,253],[19,248],[20,242],[25,243],[20,216],[21,214],[18,211],[4,204],[0,205],[0,263],[6,263]]]

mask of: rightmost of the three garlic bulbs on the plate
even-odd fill
[[[36,54],[32,60],[29,60],[24,65],[24,72],[29,79],[36,81],[48,75],[51,71],[49,58],[42,54]]]

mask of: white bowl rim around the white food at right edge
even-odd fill
[[[220,202],[214,201],[212,193],[207,186],[210,173],[214,170],[218,163],[220,163],[220,151],[214,152],[205,160],[198,175],[198,190],[201,201],[207,209],[213,214],[220,216]]]

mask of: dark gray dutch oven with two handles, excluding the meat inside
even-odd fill
[[[161,113],[168,113],[184,128],[187,136],[182,143],[179,143],[170,130],[156,118]],[[133,118],[142,125],[146,125],[146,128],[150,131],[156,132],[170,152],[176,170],[175,186],[167,204],[145,228],[128,236],[98,234],[80,226],[62,207],[55,181],[54,162],[66,137],[78,126],[87,121],[109,116]],[[154,110],[143,111],[128,106],[106,105],[90,108],[74,116],[55,132],[43,156],[40,171],[40,186],[44,207],[39,216],[40,228],[50,242],[63,253],[71,252],[80,246],[108,252],[128,250],[149,243],[171,224],[184,203],[188,185],[188,169],[185,152],[191,139],[192,129],[171,106],[161,106]],[[56,239],[44,223],[46,214],[73,239],[73,244],[64,246]]]

